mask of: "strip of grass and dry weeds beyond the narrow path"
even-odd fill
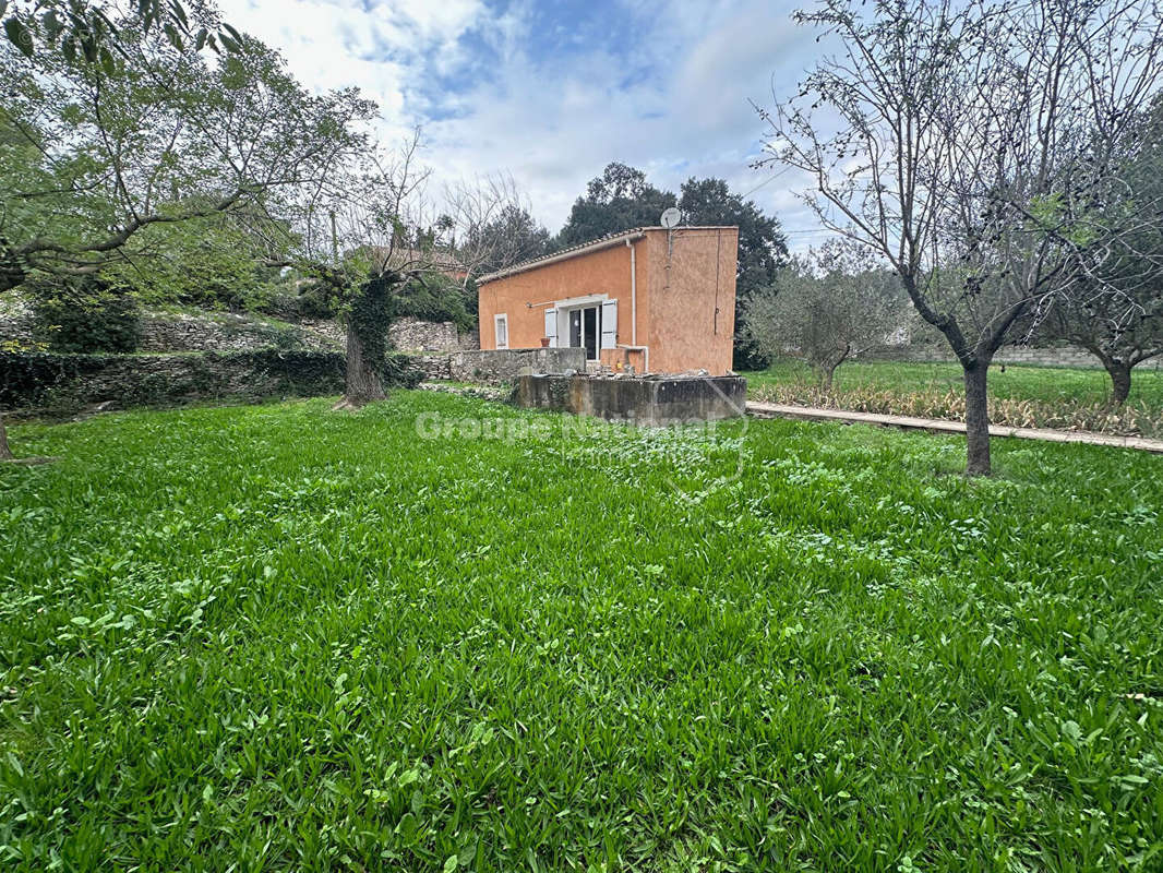
[[[861,361],[836,370],[832,395],[822,395],[811,370],[780,361],[744,374],[752,399],[927,418],[964,419],[964,385],[956,363]],[[1057,427],[1163,435],[1163,370],[1132,374],[1126,406],[1105,409],[1111,379],[1103,369],[1019,367],[990,369],[990,418],[1018,427]]]

